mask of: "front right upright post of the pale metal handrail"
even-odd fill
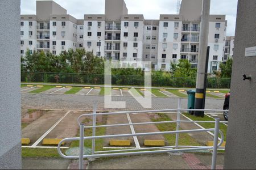
[[[218,150],[218,130],[219,130],[219,128],[220,128],[220,118],[216,118],[215,119],[215,128],[214,128],[212,168],[211,169],[216,169],[217,150]]]

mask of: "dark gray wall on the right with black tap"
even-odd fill
[[[245,57],[256,46],[255,8],[255,0],[238,0],[225,169],[256,169],[256,56]]]

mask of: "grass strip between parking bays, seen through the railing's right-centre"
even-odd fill
[[[153,122],[160,122],[160,121],[172,121],[171,118],[169,118],[166,114],[164,113],[158,113],[159,118],[151,118]],[[173,124],[156,124],[158,129],[160,131],[175,131],[176,130],[176,123]],[[180,129],[181,130],[181,129]],[[175,146],[175,138],[176,134],[165,134],[164,138],[166,138],[167,142],[169,143],[170,146]],[[179,135],[179,145],[181,146],[200,146],[200,144],[191,136],[188,134],[180,134]]]

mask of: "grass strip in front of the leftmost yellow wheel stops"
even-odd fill
[[[61,149],[65,153],[65,149]],[[23,158],[60,158],[56,148],[22,148]]]

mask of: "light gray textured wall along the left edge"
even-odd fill
[[[20,1],[0,7],[0,169],[20,169]]]

